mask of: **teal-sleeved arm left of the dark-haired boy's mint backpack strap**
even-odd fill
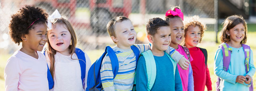
[[[148,76],[146,72],[146,63],[143,56],[140,56],[136,67],[136,90],[147,91]]]

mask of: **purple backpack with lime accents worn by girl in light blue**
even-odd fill
[[[249,72],[249,60],[250,60],[250,46],[242,44],[243,49],[244,49],[244,56],[245,56],[245,71],[246,73]],[[222,50],[222,54],[223,54],[223,70],[224,71],[228,71],[228,66],[230,64],[230,55],[232,53],[232,48],[229,48],[227,43],[222,43],[220,44],[221,50]],[[253,82],[251,82],[251,86],[249,87],[249,91],[253,91]],[[250,85],[250,84],[249,84]],[[220,91],[220,78],[217,78],[217,82],[216,82],[216,91]]]

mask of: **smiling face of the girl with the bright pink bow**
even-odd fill
[[[172,38],[172,42],[171,45],[179,45],[183,38],[184,38],[184,25],[181,19],[173,19],[170,22],[170,27],[171,27],[171,38]]]

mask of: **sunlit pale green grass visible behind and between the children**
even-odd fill
[[[256,29],[256,28],[254,28]],[[136,29],[135,29],[136,30]],[[139,28],[138,28],[139,30]],[[218,34],[219,35],[219,34]],[[217,76],[214,75],[213,72],[213,65],[214,65],[214,56],[215,56],[215,52],[218,49],[218,46],[220,45],[219,43],[215,43],[215,32],[213,31],[206,31],[204,34],[204,38],[201,44],[198,45],[198,47],[202,47],[207,49],[208,51],[208,68],[210,71],[210,75],[211,75],[211,80],[212,80],[212,90],[215,91],[215,82],[217,80]],[[218,38],[219,39],[219,38]],[[254,39],[256,39],[256,32],[249,32],[248,33],[248,40],[247,40],[247,45],[251,46],[251,49],[253,52],[256,52],[256,45],[254,44]],[[102,53],[104,52],[104,49],[101,50],[88,50],[85,52],[88,54],[88,56],[90,57],[92,63],[98,59],[98,57],[100,55],[102,55]],[[0,55],[0,91],[4,91],[4,67],[6,65],[6,60],[11,56],[12,54],[6,54],[6,55]],[[256,53],[253,54],[254,58],[254,65],[256,65]],[[254,76],[252,77],[253,79],[253,84],[254,84],[254,89],[256,89],[256,74],[254,74]],[[207,90],[205,88],[205,90]]]

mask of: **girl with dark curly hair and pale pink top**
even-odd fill
[[[47,42],[47,18],[46,11],[35,6],[22,7],[12,15],[9,34],[22,47],[7,60],[6,91],[49,91],[46,59],[39,52]]]

